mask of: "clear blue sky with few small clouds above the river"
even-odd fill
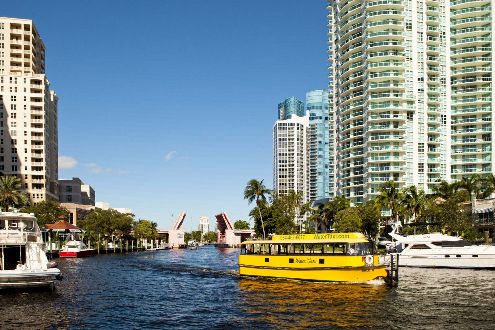
[[[59,178],[170,228],[248,220],[273,188],[277,104],[327,88],[326,1],[30,1],[59,97]],[[62,157],[63,156],[63,157]],[[251,221],[252,224],[252,221]]]

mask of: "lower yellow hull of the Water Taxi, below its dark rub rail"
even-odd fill
[[[285,278],[318,282],[364,282],[387,278],[386,265],[364,267],[282,268],[239,265],[241,276]]]

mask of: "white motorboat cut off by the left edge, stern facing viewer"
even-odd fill
[[[33,213],[0,211],[0,289],[49,287],[61,280],[43,247],[43,238]]]

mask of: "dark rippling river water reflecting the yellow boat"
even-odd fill
[[[401,268],[397,286],[238,275],[239,249],[59,259],[46,292],[2,294],[1,329],[494,329],[495,271]]]

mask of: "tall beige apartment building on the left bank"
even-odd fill
[[[0,172],[31,204],[58,200],[57,102],[32,20],[0,17]]]

